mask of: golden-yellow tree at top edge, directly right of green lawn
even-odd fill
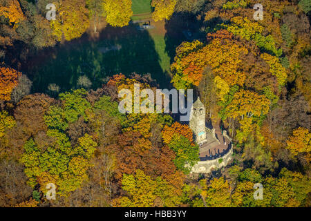
[[[171,19],[176,3],[176,0],[153,0],[151,3],[151,6],[154,7],[154,12],[152,13],[153,20]]]

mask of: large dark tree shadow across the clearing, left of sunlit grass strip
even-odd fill
[[[33,92],[44,93],[52,83],[62,91],[77,88],[77,79],[82,75],[92,81],[92,88],[99,88],[107,77],[118,73],[126,76],[150,73],[162,88],[168,86],[170,79],[163,73],[160,57],[147,30],[138,30],[135,24],[124,28],[107,26],[97,40],[89,39],[84,34],[79,39],[44,50],[42,53],[48,54],[41,61],[43,54],[39,52],[37,63],[40,64],[32,62],[28,68]]]

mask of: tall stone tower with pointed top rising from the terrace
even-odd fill
[[[189,126],[194,132],[197,144],[207,142],[205,131],[205,107],[200,101],[200,97],[191,106]]]

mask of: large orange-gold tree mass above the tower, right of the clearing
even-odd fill
[[[189,52],[188,55],[184,55],[185,52],[183,52],[182,58],[176,57],[176,62],[171,65],[174,86],[180,84],[178,82],[180,80],[198,86],[207,66],[216,76],[218,75],[226,81],[228,86],[235,84],[243,86],[246,75],[238,71],[242,62],[239,57],[242,54],[247,54],[247,48],[232,39],[220,38],[212,40],[203,48],[200,45],[196,48],[198,50],[186,50],[185,52]],[[179,75],[181,78],[178,78]],[[220,79],[216,79],[216,81],[220,84]]]

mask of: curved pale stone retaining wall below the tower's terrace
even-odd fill
[[[228,162],[232,159],[233,145],[228,153],[215,160],[199,161],[191,169],[190,173],[210,173],[211,169],[219,169],[223,166],[227,166]],[[223,162],[219,163],[219,159],[223,159]]]

